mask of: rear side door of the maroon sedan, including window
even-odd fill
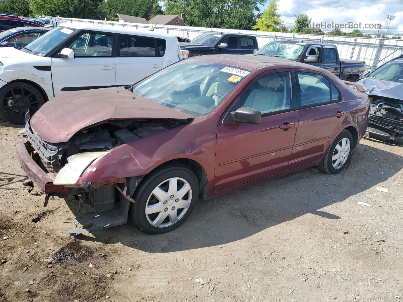
[[[296,72],[299,125],[289,170],[318,161],[343,128],[346,104],[337,88],[320,74]]]

